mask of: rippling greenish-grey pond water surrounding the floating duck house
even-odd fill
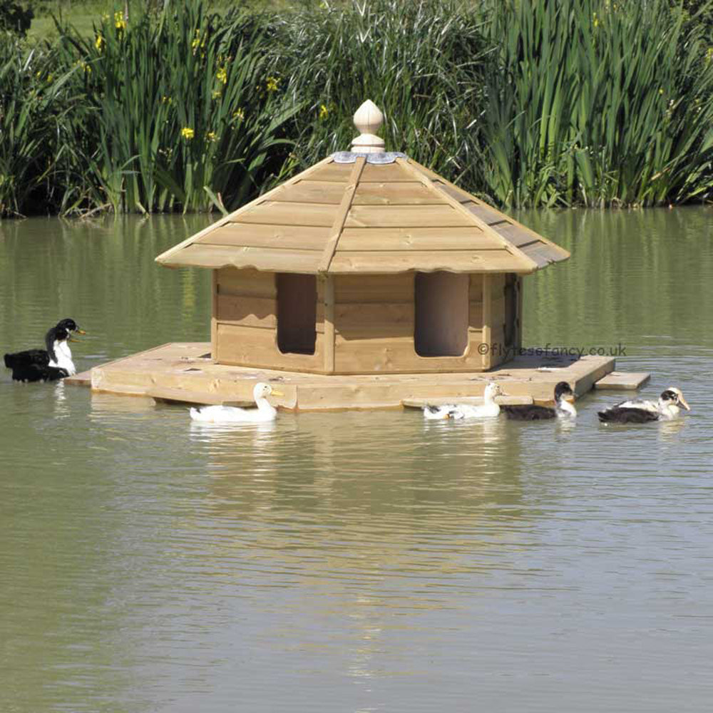
[[[713,696],[713,211],[520,215],[572,252],[525,344],[622,344],[690,414],[417,412],[192,426],[0,376],[0,710],[704,711]],[[209,337],[205,216],[0,223],[2,351],[73,317],[81,369]]]

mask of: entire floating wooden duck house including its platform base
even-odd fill
[[[371,408],[478,396],[493,379],[521,399],[551,399],[555,381],[582,393],[612,371],[613,359],[585,357],[556,375],[538,371],[541,359],[498,374],[520,347],[523,276],[570,255],[386,152],[382,121],[366,101],[351,151],[159,255],[212,271],[210,346],[168,344],[95,367],[93,388],[229,403],[272,379],[285,408]]]

